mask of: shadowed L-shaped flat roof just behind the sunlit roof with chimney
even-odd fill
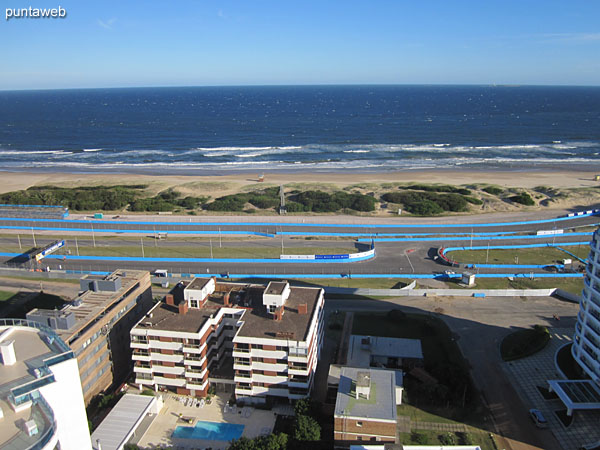
[[[369,367],[371,356],[423,359],[419,339],[388,338],[353,334],[348,344],[347,364]]]

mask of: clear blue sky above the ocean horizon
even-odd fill
[[[56,7],[65,19],[4,20]],[[4,0],[0,89],[600,85],[598,0]]]

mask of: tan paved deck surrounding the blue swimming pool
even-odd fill
[[[213,450],[225,450],[229,446],[229,442],[227,441],[178,439],[171,437],[177,426],[192,427],[198,420],[244,425],[242,436],[247,438],[270,434],[275,426],[275,413],[273,411],[264,411],[249,407],[234,407],[233,411],[228,408],[227,412],[223,412],[230,394],[213,396],[212,403],[205,405],[203,408],[185,406],[178,400],[185,398],[185,396],[172,393],[162,395],[165,406],[139,442],[137,442],[140,448],[156,449],[168,447],[176,450],[191,450],[210,447]],[[193,419],[192,423],[185,423],[180,419],[180,415],[184,418]]]

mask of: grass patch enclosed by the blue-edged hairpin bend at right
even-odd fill
[[[568,245],[564,247],[582,259],[590,253],[589,245]],[[490,249],[487,250],[456,250],[446,255],[460,263],[472,264],[553,264],[563,259],[573,259],[571,255],[554,247]],[[518,262],[517,262],[518,261]]]

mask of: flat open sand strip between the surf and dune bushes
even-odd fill
[[[262,174],[262,173],[261,173]],[[143,175],[143,174],[92,174],[59,172],[1,172],[0,193],[31,186],[53,185],[64,187],[147,184],[153,190],[177,187],[182,192],[193,190],[198,194],[227,195],[246,187],[259,188],[293,184],[309,184],[317,187],[344,188],[364,183],[444,183],[451,185],[491,184],[505,188],[549,186],[554,188],[599,187],[595,181],[597,172],[587,171],[456,171],[456,170],[411,170],[404,172],[264,172],[265,181],[260,185],[261,174],[236,173],[216,176],[194,175]]]

